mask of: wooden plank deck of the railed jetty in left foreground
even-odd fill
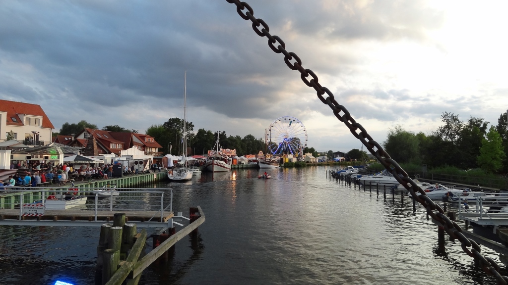
[[[113,221],[113,215],[118,212],[125,213],[125,222],[148,222],[150,218],[150,222],[168,222],[169,219],[173,218],[174,213],[170,211],[165,211],[163,213],[163,220],[161,221],[161,212],[160,211],[97,211],[97,220],[110,222]],[[43,220],[51,220],[51,221],[59,221],[59,220],[69,220],[69,221],[95,221],[95,211],[93,210],[73,210],[73,209],[65,209],[65,210],[46,210],[44,216],[42,217],[19,217],[19,209],[2,209],[0,210],[0,220],[34,220],[34,221],[43,221]]]

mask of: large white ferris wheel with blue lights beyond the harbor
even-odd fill
[[[307,146],[307,129],[300,120],[284,116],[273,121],[268,127],[265,142],[274,155],[292,154],[302,157]]]

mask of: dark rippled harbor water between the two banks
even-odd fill
[[[174,210],[206,215],[141,284],[495,284],[409,199],[344,188],[325,167],[202,173],[172,188]],[[169,193],[169,192],[168,192]],[[179,228],[177,228],[179,230]],[[93,284],[96,228],[0,227],[0,284]],[[151,245],[147,246],[151,248]],[[497,254],[482,253],[498,261]]]

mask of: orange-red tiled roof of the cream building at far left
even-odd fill
[[[42,110],[40,105],[15,102],[8,100],[0,100],[0,111],[7,112],[7,125],[11,126],[23,126],[23,122],[18,114],[21,115],[32,115],[42,117],[42,127],[48,129],[54,129],[55,127],[49,120],[48,116]],[[15,118],[17,122],[14,122],[12,118]]]

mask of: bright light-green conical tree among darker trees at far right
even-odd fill
[[[478,165],[487,172],[496,172],[502,168],[504,157],[501,136],[494,127],[490,127],[487,137],[482,141]]]

